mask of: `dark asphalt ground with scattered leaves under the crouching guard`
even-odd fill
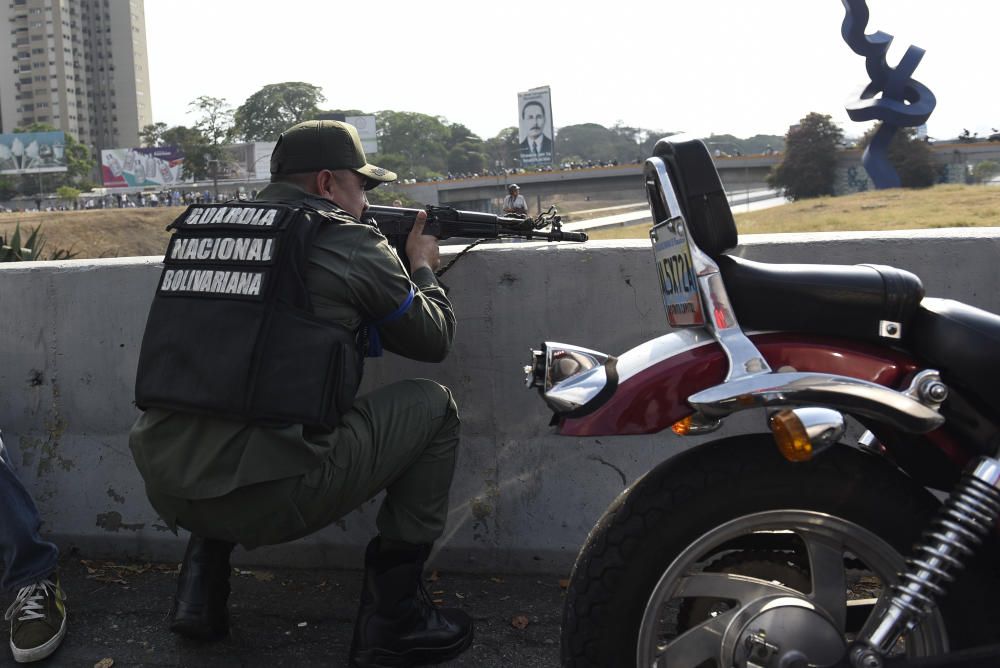
[[[92,562],[61,567],[68,631],[41,666],[346,666],[359,571],[240,569],[232,579],[232,633],[201,645],[167,630],[176,564]],[[428,590],[476,622],[476,639],[452,668],[558,665],[563,589],[556,576],[438,573]],[[0,604],[9,604],[4,597]],[[0,648],[0,665],[15,665]],[[100,668],[108,668],[105,661]]]

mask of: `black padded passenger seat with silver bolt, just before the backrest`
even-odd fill
[[[716,259],[743,329],[783,330],[878,340],[883,324],[905,335],[924,287],[908,271],[883,265],[768,264]]]

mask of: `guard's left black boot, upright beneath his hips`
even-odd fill
[[[170,610],[170,630],[192,640],[229,633],[229,555],[235,545],[191,534]]]

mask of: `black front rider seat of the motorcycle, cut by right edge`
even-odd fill
[[[906,337],[908,348],[942,379],[1000,406],[1000,316],[951,299],[920,303]]]

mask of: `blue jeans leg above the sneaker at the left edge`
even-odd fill
[[[41,539],[40,525],[35,502],[14,474],[0,441],[0,591],[38,582],[55,569],[59,549]]]

